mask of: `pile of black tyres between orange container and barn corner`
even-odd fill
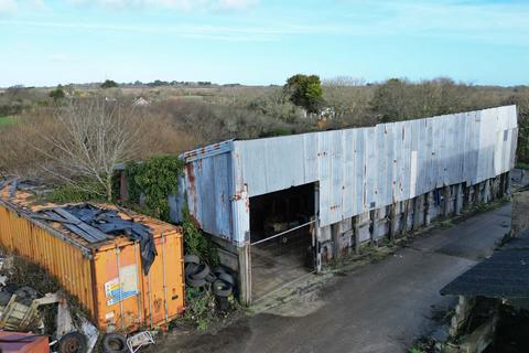
[[[212,270],[207,264],[202,263],[201,258],[195,255],[186,255],[184,265],[185,284],[188,287],[196,288],[198,295],[212,290],[215,295],[218,310],[226,311],[229,308],[228,298],[236,289],[235,277],[230,270],[222,266]]]

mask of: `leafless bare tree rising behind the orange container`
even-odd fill
[[[54,115],[60,127],[43,136],[51,149],[39,149],[48,163],[44,169],[63,181],[96,181],[112,197],[116,165],[133,159],[141,146],[143,122],[134,107],[105,98],[72,99]]]

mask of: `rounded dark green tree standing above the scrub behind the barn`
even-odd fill
[[[290,101],[309,113],[316,113],[323,104],[322,82],[316,75],[294,75],[287,81],[283,89]]]

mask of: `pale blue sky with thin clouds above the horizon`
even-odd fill
[[[0,0],[0,86],[529,83],[529,1]]]

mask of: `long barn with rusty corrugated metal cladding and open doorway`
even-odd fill
[[[363,243],[509,192],[516,106],[256,140],[182,154],[182,194],[250,302]]]

